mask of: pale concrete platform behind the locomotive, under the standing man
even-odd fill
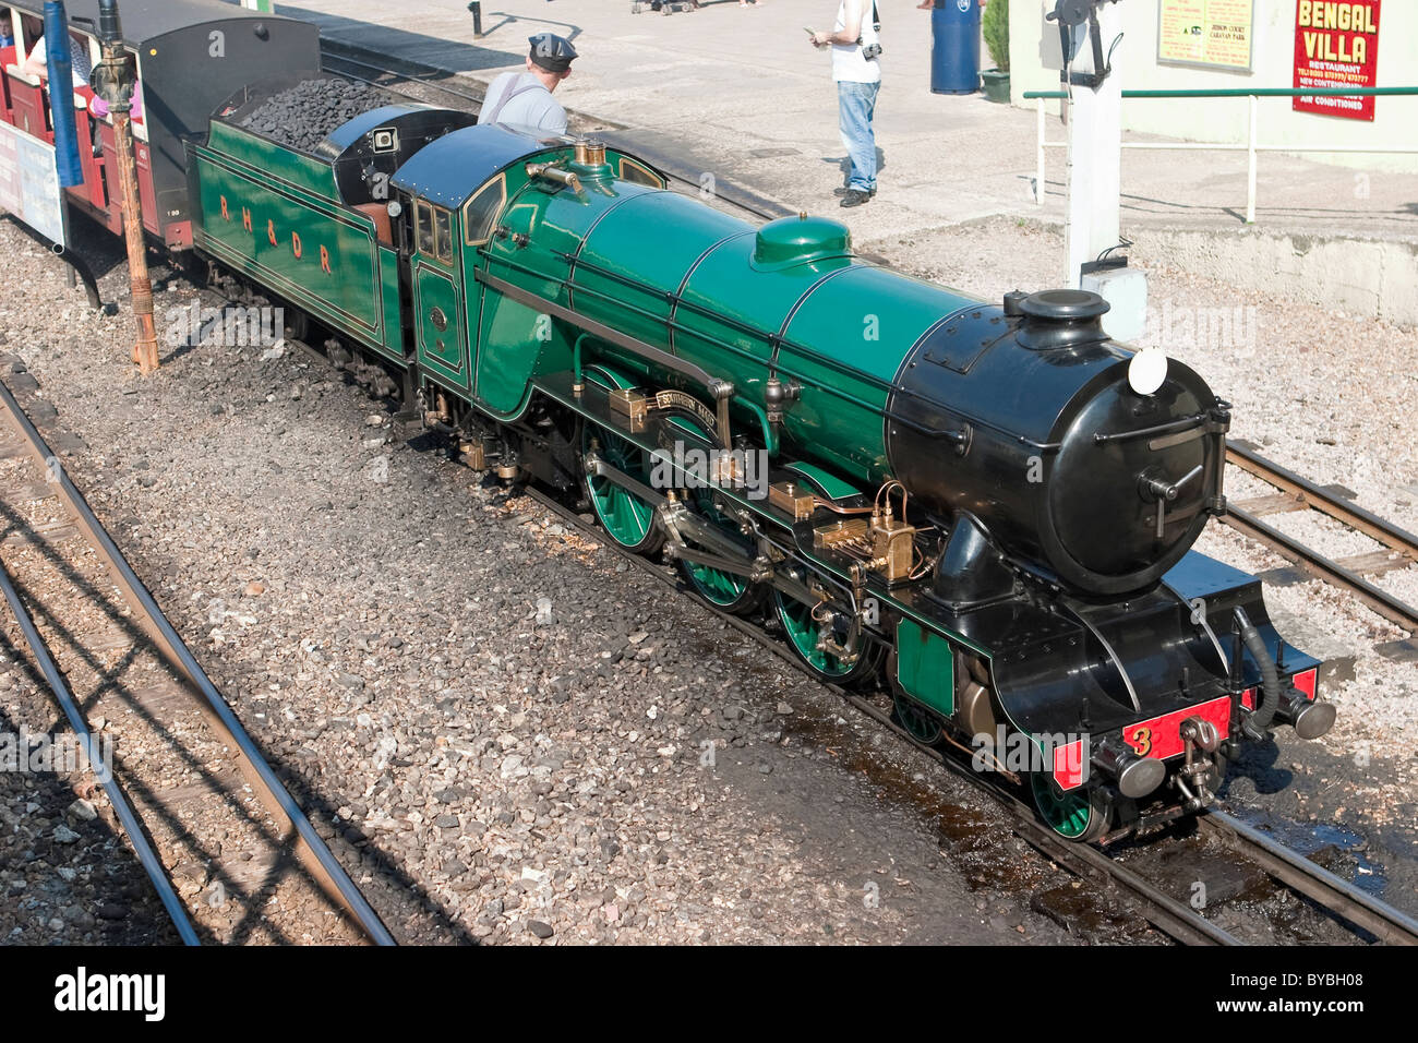
[[[881,190],[858,211],[839,211],[831,194],[845,163],[837,101],[828,57],[804,33],[828,26],[832,0],[706,0],[672,16],[632,14],[631,0],[485,1],[482,40],[464,4],[448,0],[302,0],[278,10],[318,21],[330,38],[484,82],[520,65],[527,35],[560,33],[583,55],[557,95],[569,109],[624,128],[700,176],[791,210],[845,214],[858,240],[998,214],[1061,223],[1064,149],[1048,150],[1045,203],[1032,200],[1035,114],[930,94],[929,13],[886,7]],[[1049,138],[1062,140],[1059,119],[1048,122]],[[1245,175],[1244,153],[1124,150],[1123,233],[1139,254],[1201,275],[1303,299],[1327,282],[1330,307],[1418,325],[1418,176],[1263,155],[1258,221],[1248,227]]]

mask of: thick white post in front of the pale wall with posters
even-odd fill
[[[1107,60],[1123,31],[1119,4],[1099,4],[1098,21]],[[1082,34],[1081,34],[1082,35]],[[1082,265],[1119,241],[1123,175],[1122,51],[1112,53],[1113,71],[1102,87],[1073,87],[1069,112],[1068,223],[1065,285],[1078,288]],[[1073,58],[1075,72],[1093,72],[1093,48],[1086,41]]]

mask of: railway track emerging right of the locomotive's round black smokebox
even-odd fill
[[[1229,443],[1227,461],[1276,490],[1273,495],[1229,504],[1222,518],[1227,525],[1263,543],[1310,575],[1350,592],[1390,623],[1418,636],[1418,609],[1366,578],[1418,565],[1418,536],[1349,502],[1332,490],[1266,460],[1248,446]],[[1333,561],[1262,521],[1262,517],[1292,511],[1317,511],[1368,536],[1380,549]]]

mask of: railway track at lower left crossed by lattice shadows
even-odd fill
[[[393,944],[4,385],[0,475],[0,592],[177,938]]]

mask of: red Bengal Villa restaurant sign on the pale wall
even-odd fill
[[[1295,88],[1377,87],[1380,0],[1299,0],[1295,9]],[[1373,119],[1374,96],[1295,98],[1296,112]]]

